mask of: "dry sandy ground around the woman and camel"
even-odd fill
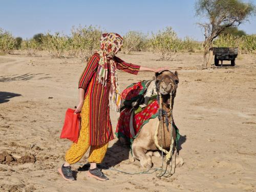
[[[111,141],[101,182],[86,176],[86,155],[73,165],[77,181],[57,172],[71,142],[59,139],[65,112],[78,101],[79,59],[0,56],[0,191],[256,191],[256,57],[242,55],[235,67],[198,70],[202,55],[178,54],[161,61],[153,53],[119,55],[148,67],[179,72],[174,119],[181,133],[184,165],[174,176],[124,175],[143,170],[129,150]],[[229,62],[224,62],[229,63]],[[123,90],[154,74],[119,72]],[[111,111],[113,129],[118,115]],[[16,159],[14,161],[13,159]],[[159,167],[160,158],[154,158]]]

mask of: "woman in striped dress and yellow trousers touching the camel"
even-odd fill
[[[88,176],[108,180],[96,163],[102,162],[109,141],[114,139],[109,102],[119,110],[121,97],[116,70],[137,75],[139,71],[158,72],[167,69],[146,68],[124,62],[115,56],[122,44],[123,38],[117,33],[102,34],[100,51],[91,56],[79,79],[79,103],[75,113],[81,112],[81,129],[78,142],[71,145],[66,153],[66,162],[59,168],[65,180],[74,180],[70,165],[78,162],[90,146]]]

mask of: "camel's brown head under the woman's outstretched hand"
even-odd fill
[[[156,87],[162,95],[175,94],[178,88],[178,73],[172,73],[168,70],[156,73]]]

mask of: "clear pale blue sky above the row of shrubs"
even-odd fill
[[[109,3],[106,3],[109,2]],[[70,34],[79,24],[100,26],[109,32],[125,34],[129,30],[143,33],[172,27],[179,37],[203,40],[196,25],[195,0],[9,0],[0,4],[0,28],[14,36],[30,38],[36,33]],[[256,4],[256,0],[251,1]],[[248,34],[256,33],[256,18],[240,25]]]

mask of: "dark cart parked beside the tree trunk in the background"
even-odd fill
[[[238,48],[228,48],[228,47],[214,47],[212,48],[214,52],[214,64],[219,66],[219,61],[221,61],[221,65],[223,60],[230,60],[231,66],[234,66],[234,60],[238,56]]]

